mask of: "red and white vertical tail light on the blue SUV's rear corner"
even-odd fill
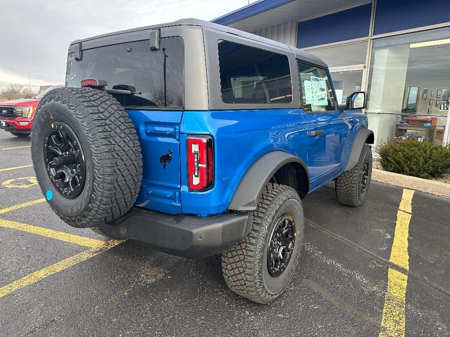
[[[201,192],[213,187],[213,138],[192,135],[187,137],[187,186]]]

